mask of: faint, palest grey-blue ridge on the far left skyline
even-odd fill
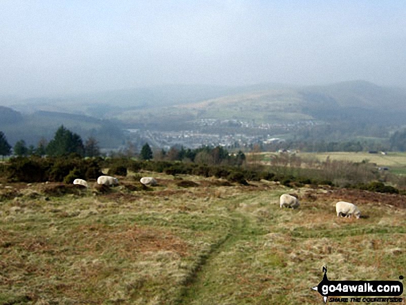
[[[16,100],[0,99],[22,112],[55,111],[93,115],[97,118],[111,116],[127,110],[154,109],[175,104],[199,102],[234,94],[245,89],[210,85],[162,85],[137,89],[122,89],[81,95],[67,95],[57,98],[28,98]]]

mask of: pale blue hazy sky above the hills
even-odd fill
[[[404,0],[0,0],[0,95],[405,75]]]

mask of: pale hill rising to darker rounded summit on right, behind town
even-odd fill
[[[236,90],[237,91],[237,90]],[[167,107],[126,109],[111,117],[127,123],[235,119],[259,123],[344,120],[406,124],[406,91],[369,82],[329,86],[240,87],[237,93]]]

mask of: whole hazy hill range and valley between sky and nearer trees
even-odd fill
[[[105,119],[116,122],[116,127],[120,124],[122,128],[165,131],[196,129],[196,125],[205,119],[275,125],[317,122],[330,126],[329,130],[317,127],[324,128],[320,134],[326,140],[331,140],[329,134],[335,131],[344,138],[350,133],[351,136],[373,134],[387,137],[389,127],[397,129],[406,125],[406,90],[365,81],[325,86],[165,85],[59,98],[13,98],[10,103],[10,108],[26,113],[24,130],[27,126],[33,130],[50,130],[57,122],[66,122],[66,127],[72,126],[85,134],[90,134],[90,130],[101,130]],[[16,113],[10,110],[8,113],[12,120],[19,120]],[[15,132],[18,126],[13,127]],[[201,131],[203,129],[201,127]],[[214,129],[204,130],[214,132]],[[269,132],[294,133],[295,130],[281,127]],[[217,133],[240,131],[235,131],[232,124],[225,129],[215,129]],[[255,132],[259,131],[252,131]],[[23,134],[21,131],[19,136]],[[307,134],[308,131],[302,132],[301,136]],[[315,133],[315,137],[321,136]],[[122,138],[113,138],[111,143],[118,141]],[[109,140],[105,142],[110,143]]]

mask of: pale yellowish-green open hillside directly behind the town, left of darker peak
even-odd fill
[[[289,95],[292,94],[292,95]],[[243,120],[257,123],[309,120],[300,112],[300,100],[291,91],[267,91],[216,98],[174,107],[125,111],[114,118],[123,122],[194,122],[199,119]]]

